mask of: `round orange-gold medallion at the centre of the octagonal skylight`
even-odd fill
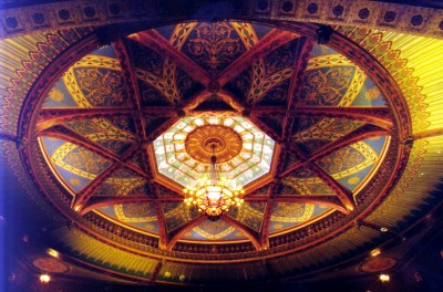
[[[217,163],[229,161],[240,154],[243,140],[233,128],[222,125],[205,125],[195,128],[185,139],[186,153],[195,160],[210,164],[210,157],[217,156]]]

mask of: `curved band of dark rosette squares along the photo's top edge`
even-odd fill
[[[174,6],[175,4],[175,6]],[[13,6],[12,6],[13,7]],[[177,9],[179,17],[165,15],[165,11]],[[260,19],[305,21],[324,24],[371,27],[396,30],[412,34],[442,38],[442,10],[416,6],[385,3],[379,1],[329,1],[329,0],[271,0],[220,2],[207,8],[197,6],[177,7],[174,1],[69,1],[4,9],[0,13],[2,30],[0,38],[11,38],[34,31],[89,25],[127,23],[133,21],[158,23],[178,19]]]

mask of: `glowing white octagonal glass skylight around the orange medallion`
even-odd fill
[[[224,136],[219,128],[228,128],[227,132],[235,132],[241,138],[239,145],[229,145],[227,139],[227,149],[236,155],[217,165],[220,176],[235,180],[238,186],[245,186],[269,173],[275,142],[244,117],[214,115],[184,117],[155,139],[157,171],[182,186],[194,185],[199,177],[205,176],[209,164],[189,155],[189,147],[202,145],[190,143],[187,138],[195,129],[208,126],[214,126],[213,133],[217,136]],[[235,147],[240,148],[236,150]]]

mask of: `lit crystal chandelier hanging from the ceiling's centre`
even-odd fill
[[[216,221],[222,215],[227,213],[230,207],[240,207],[244,204],[244,199],[239,196],[244,195],[245,190],[241,187],[233,187],[235,181],[219,177],[215,156],[215,150],[219,147],[218,142],[214,139],[207,143],[213,150],[209,174],[199,178],[195,186],[185,187],[183,192],[186,206],[195,206],[198,212]]]

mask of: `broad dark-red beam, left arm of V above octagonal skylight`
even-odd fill
[[[202,83],[208,87],[212,77],[203,70],[197,63],[195,63],[189,56],[182,51],[176,50],[168,40],[166,40],[157,31],[142,31],[127,36],[130,40],[134,40],[151,50],[154,50],[161,55],[166,55],[173,61],[179,69],[186,72],[194,81]]]

